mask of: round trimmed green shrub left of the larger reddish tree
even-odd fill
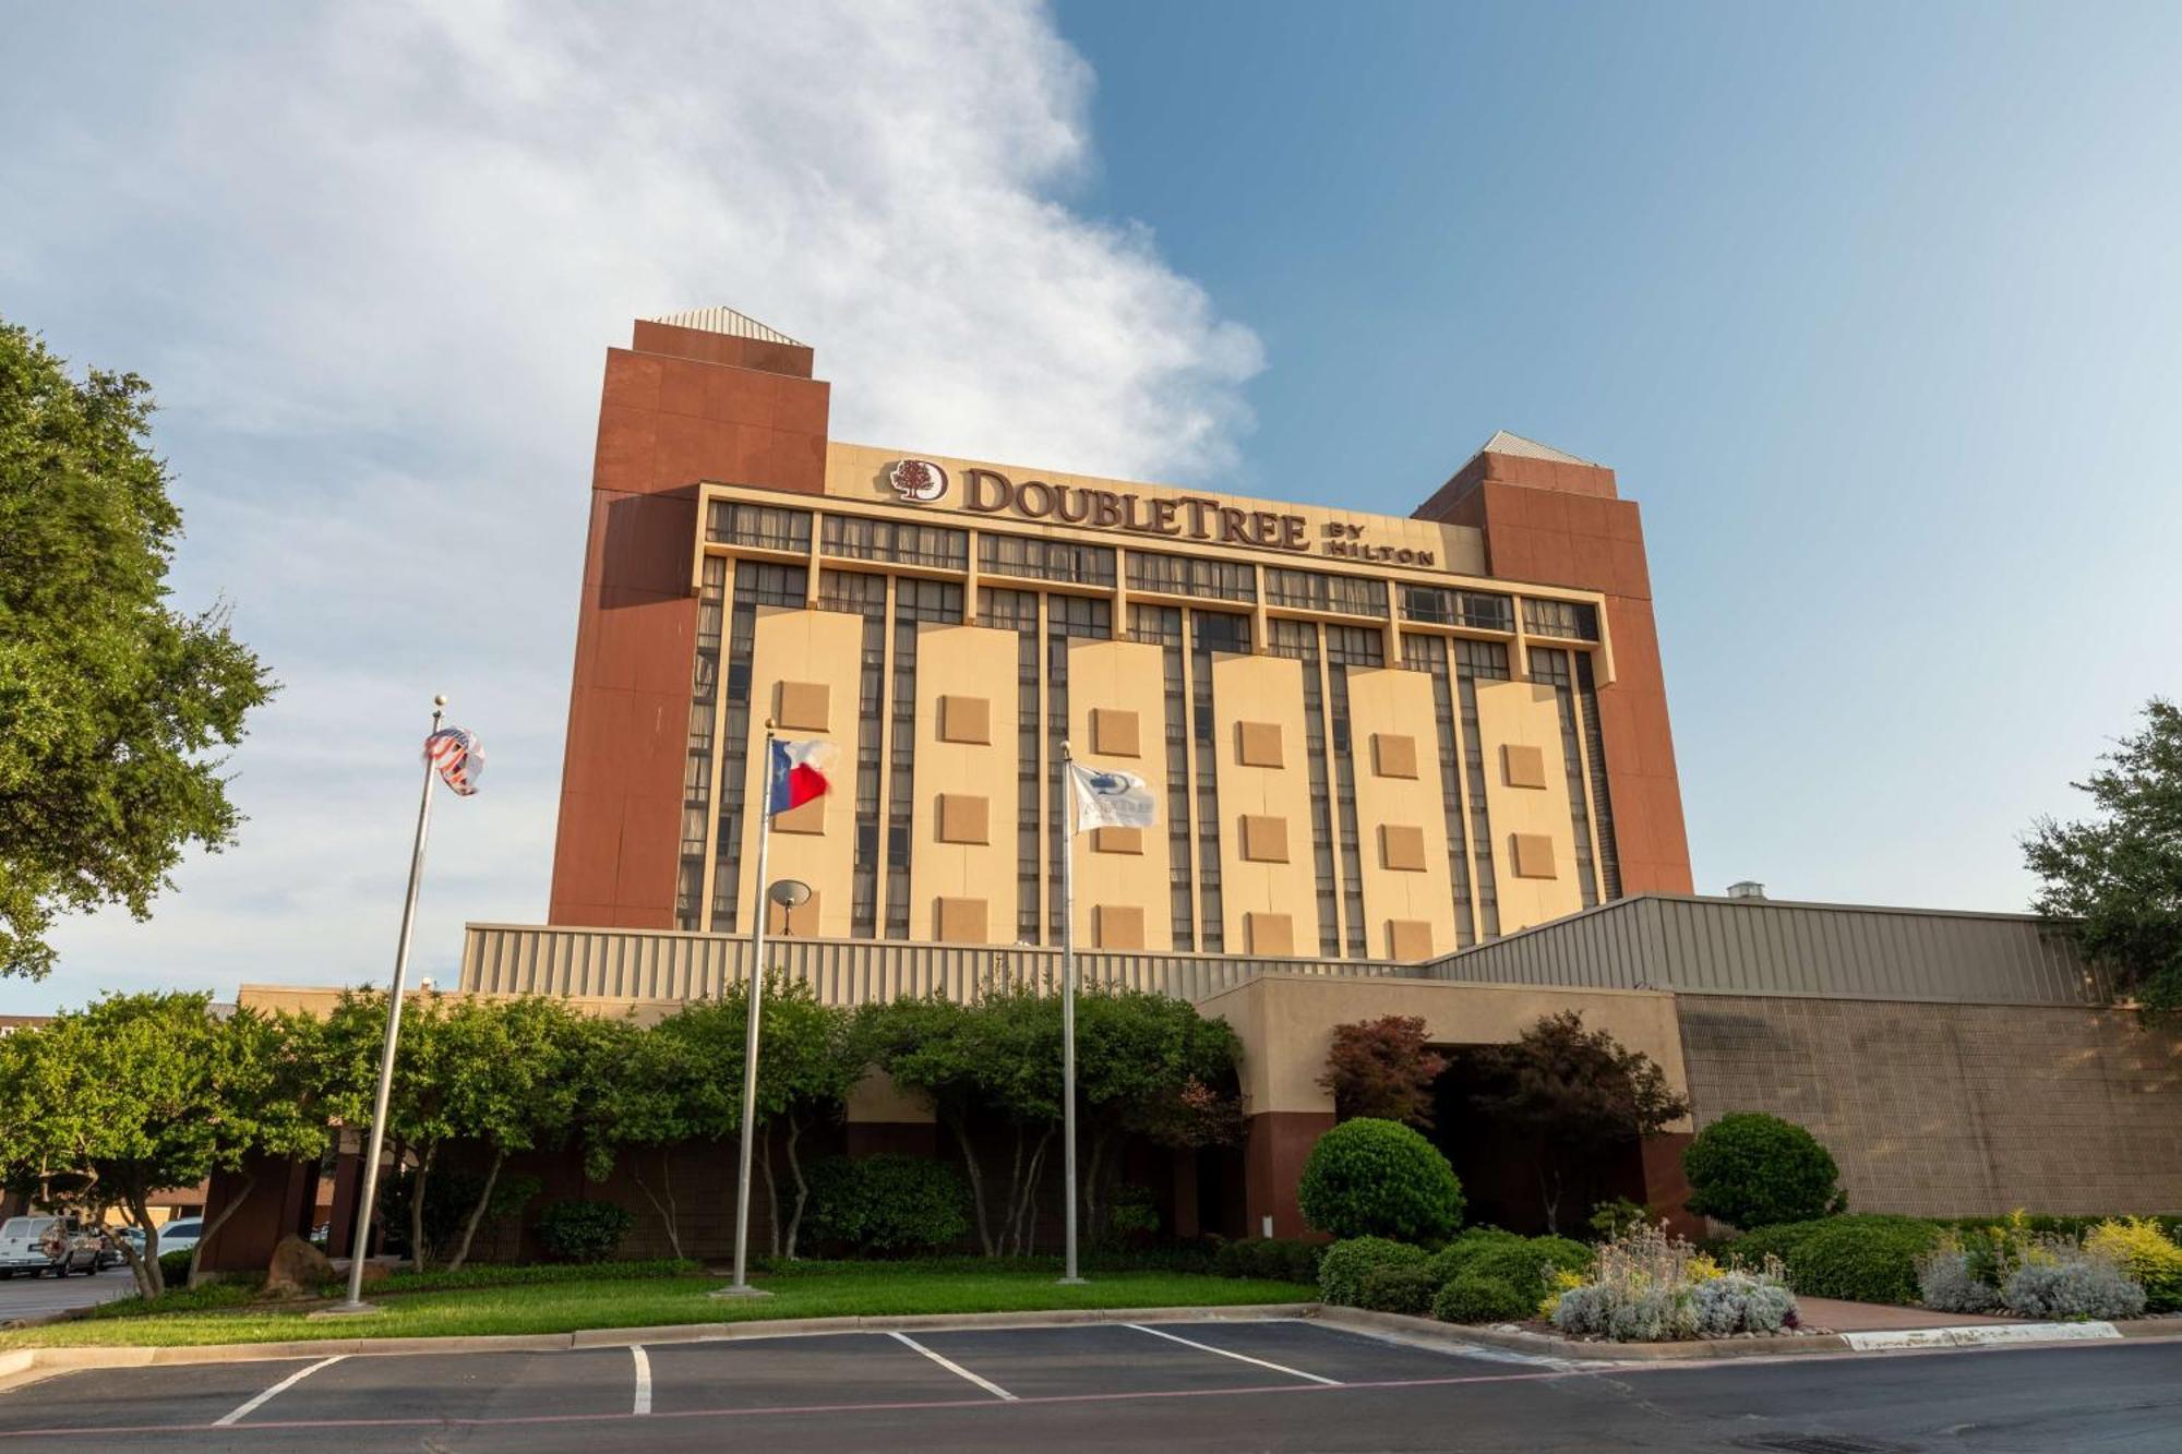
[[[1344,1120],[1311,1146],[1303,1218],[1335,1238],[1436,1242],[1462,1225],[1462,1183],[1440,1148],[1392,1120]]]

